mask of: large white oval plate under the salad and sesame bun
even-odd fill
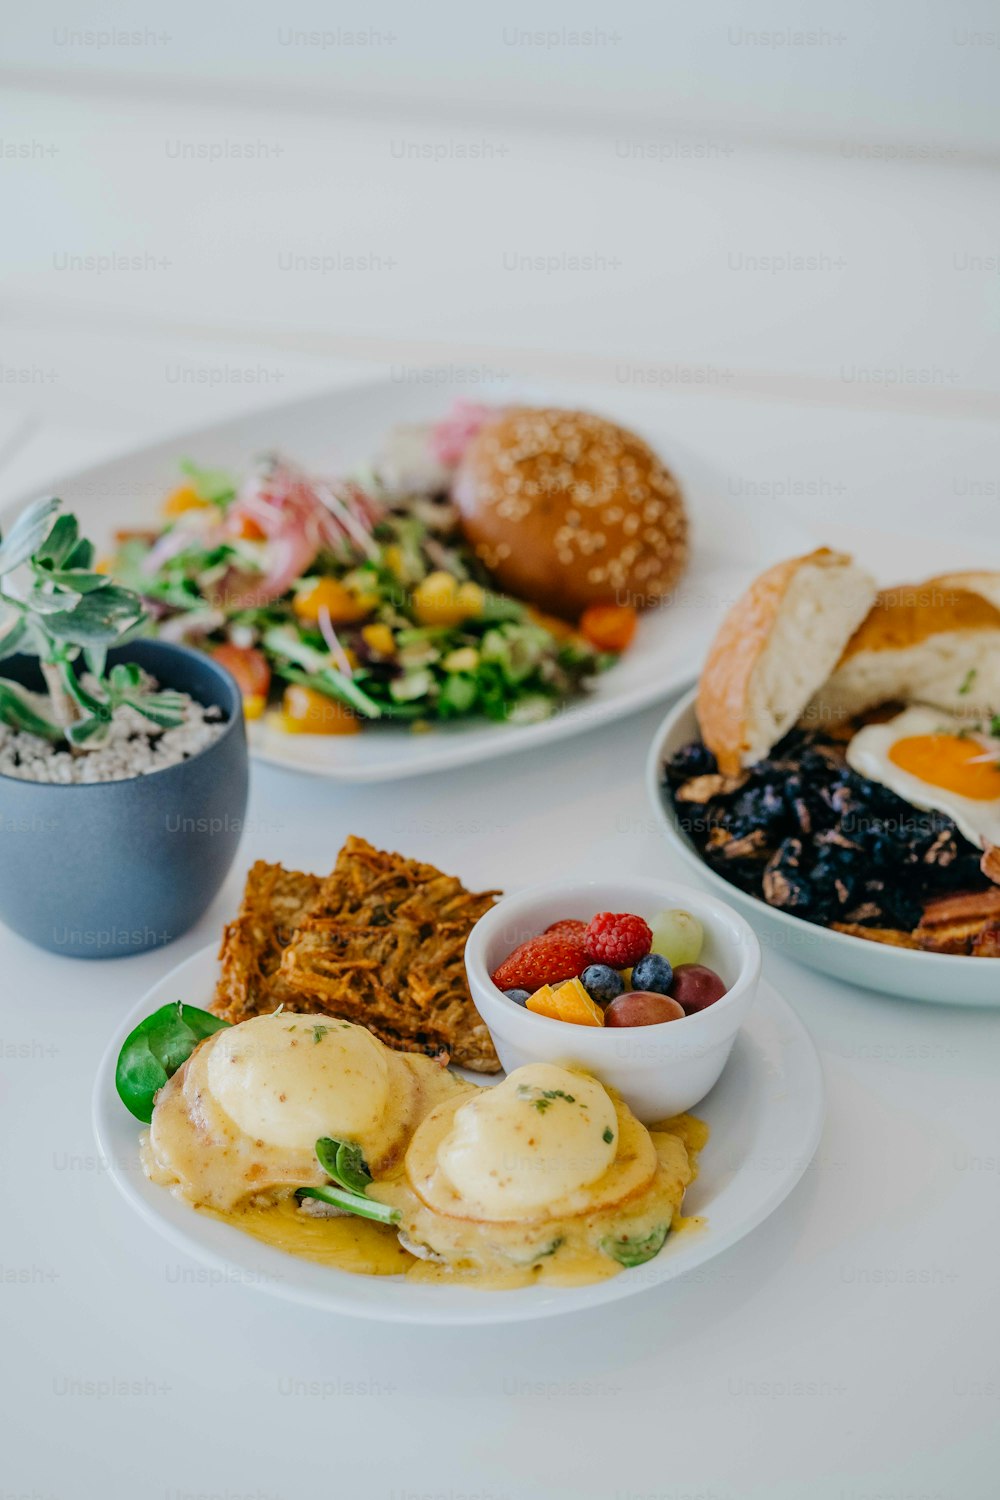
[[[213,426],[180,432],[48,486],[73,510],[96,542],[118,528],[154,526],[163,495],[180,478],[178,462],[195,459],[211,468],[244,470],[261,452],[277,450],[303,466],[327,474],[367,464],[397,422],[441,417],[456,392],[486,402],[549,402],[589,406],[637,428],[678,474],[691,516],[691,566],[673,600],[640,621],[622,660],[598,678],[592,693],[540,724],[438,726],[414,735],[405,724],[367,726],[360,735],[328,738],[286,735],[265,723],[250,724],[250,752],[261,760],[310,771],[339,782],[387,782],[442,771],[514,750],[549,744],[664,700],[690,684],[729,604],[763,567],[816,543],[780,507],[727,494],[724,476],[690,453],[664,424],[655,398],[637,393],[486,384],[471,370],[451,382],[376,381],[309,396]],[[42,486],[4,507],[4,516],[34,500]]]

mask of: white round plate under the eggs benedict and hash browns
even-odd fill
[[[762,981],[723,1077],[694,1110],[712,1134],[684,1208],[705,1215],[705,1228],[676,1234],[655,1260],[588,1287],[475,1292],[333,1270],[196,1214],[147,1182],[139,1167],[141,1125],[114,1088],[118,1050],[132,1028],[160,1005],[183,999],[207,1006],[216,975],[216,950],[204,948],[156,984],[111,1038],[93,1100],[100,1160],[130,1206],[181,1251],[220,1270],[226,1281],[325,1312],[384,1323],[519,1323],[634,1296],[694,1270],[756,1228],[787,1197],[819,1144],[823,1074],[816,1048],[792,1006]]]

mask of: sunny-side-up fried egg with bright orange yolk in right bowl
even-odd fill
[[[972,844],[1000,844],[1000,750],[961,730],[961,720],[934,708],[907,708],[859,729],[847,764],[912,807],[946,813]]]

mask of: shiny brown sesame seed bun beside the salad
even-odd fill
[[[642,438],[586,411],[508,408],[468,446],[451,494],[498,584],[565,620],[658,604],[687,564],[676,480]]]

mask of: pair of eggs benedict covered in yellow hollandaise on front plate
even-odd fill
[[[142,1164],[342,1270],[570,1284],[660,1251],[703,1134],[648,1131],[589,1074],[538,1062],[478,1088],[363,1026],[277,1011],[198,1042],[156,1094]]]

